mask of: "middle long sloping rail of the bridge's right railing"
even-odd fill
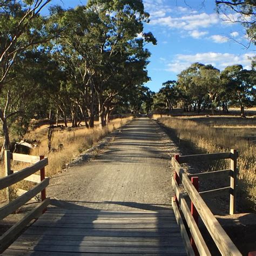
[[[183,194],[177,184],[177,181],[174,180],[174,178],[172,178],[172,186],[174,193],[177,196],[181,211],[183,212],[183,215],[186,219],[187,226],[188,228],[190,228],[190,232],[198,248],[198,252],[200,253],[200,255],[211,255],[204,241],[204,238],[201,235],[201,232],[197,226],[197,223],[191,214],[190,208],[187,206],[186,200],[184,199]]]

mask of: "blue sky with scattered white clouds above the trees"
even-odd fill
[[[255,46],[248,44],[245,29],[234,23],[237,15],[217,14],[214,0],[143,0],[150,22],[144,31],[151,31],[157,45],[150,50],[147,66],[151,80],[145,85],[157,92],[167,80],[194,62],[212,64],[220,70],[228,65],[241,64],[251,69],[250,57],[256,55]],[[203,4],[202,4],[203,3]],[[66,8],[86,4],[85,0],[52,0],[51,4]],[[43,14],[46,14],[43,10]]]

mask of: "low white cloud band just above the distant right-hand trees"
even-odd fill
[[[245,53],[243,55],[234,55],[233,53],[204,52],[195,55],[177,54],[171,63],[167,64],[166,71],[180,73],[188,68],[192,63],[199,62],[203,64],[212,64],[216,68],[223,70],[226,66],[241,64],[244,69],[251,69],[251,60],[254,53]]]

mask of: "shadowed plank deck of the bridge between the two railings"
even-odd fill
[[[187,255],[174,213],[51,207],[3,255]]]

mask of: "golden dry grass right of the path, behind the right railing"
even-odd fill
[[[178,138],[192,143],[195,147],[204,152],[224,152],[230,151],[230,149],[239,150],[238,185],[240,204],[243,207],[248,207],[249,205],[253,207],[256,200],[255,144],[248,143],[247,140],[241,138],[246,136],[246,128],[243,130],[244,134],[242,134],[241,131],[239,137],[236,137],[233,132],[228,132],[227,128],[217,129],[191,119],[160,117],[158,115],[154,115],[153,118],[159,120],[159,122],[163,123],[166,127],[176,131]],[[241,124],[239,124],[239,128],[240,126]],[[233,126],[231,127],[233,128]],[[223,165],[225,165],[225,161],[223,161]],[[222,167],[225,169],[227,166]]]

